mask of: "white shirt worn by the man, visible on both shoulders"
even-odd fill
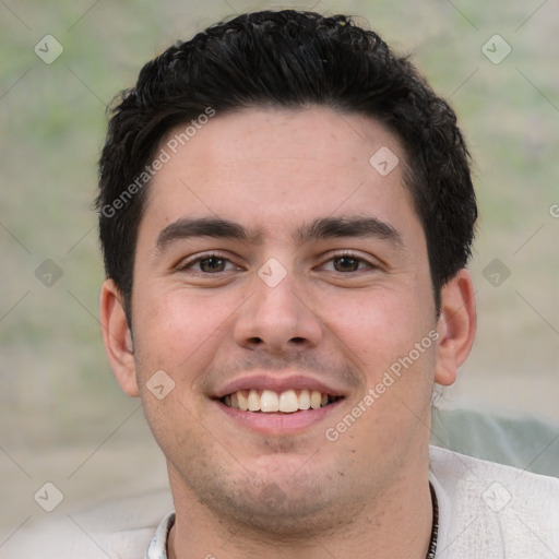
[[[438,559],[559,558],[559,479],[436,447],[429,453],[439,503]],[[43,530],[19,531],[0,556],[167,559],[170,507],[167,490],[62,516]]]

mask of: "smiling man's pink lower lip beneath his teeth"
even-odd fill
[[[262,435],[295,435],[329,417],[342,403],[342,399],[318,409],[300,409],[292,414],[242,412],[217,400],[215,403],[233,420],[252,431]]]

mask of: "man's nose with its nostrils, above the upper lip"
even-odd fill
[[[235,324],[239,346],[277,356],[316,347],[322,335],[322,324],[293,272],[277,285],[254,277],[252,296],[241,307]]]

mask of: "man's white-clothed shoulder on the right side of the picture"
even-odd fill
[[[438,558],[557,557],[559,479],[436,447],[429,456]]]

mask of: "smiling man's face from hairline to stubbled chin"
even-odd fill
[[[293,533],[426,468],[439,332],[404,164],[365,117],[250,109],[156,174],[120,381],[174,493]]]

